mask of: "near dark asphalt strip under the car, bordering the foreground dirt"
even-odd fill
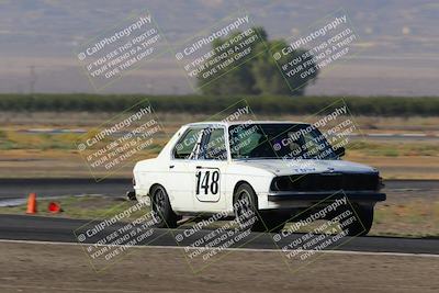
[[[38,241],[57,241],[57,243],[78,243],[77,236],[86,233],[87,229],[93,227],[98,222],[67,218],[49,218],[41,216],[22,216],[22,215],[0,215],[0,239],[10,240],[38,240]],[[86,227],[83,225],[88,224]],[[82,227],[81,227],[82,226]],[[100,238],[110,235],[114,230],[122,227],[113,225],[100,234]],[[74,234],[75,233],[75,234]],[[165,246],[165,247],[185,247],[194,240],[202,238],[211,233],[209,229],[202,229],[177,243],[176,235],[183,234],[184,228],[180,229],[154,229],[154,237],[148,241],[140,243],[143,246]],[[302,234],[294,234],[282,238],[274,244],[273,234],[270,233],[251,233],[250,239],[245,245],[239,244],[235,248],[247,249],[279,249],[289,245],[294,239],[301,237]],[[151,240],[154,239],[154,240]],[[86,239],[85,244],[94,244],[97,239]],[[232,247],[234,248],[234,247]],[[396,253],[427,253],[439,255],[439,239],[410,239],[410,238],[392,238],[392,237],[344,237],[340,241],[327,247],[329,250],[341,251],[362,251],[362,252],[396,252]]]

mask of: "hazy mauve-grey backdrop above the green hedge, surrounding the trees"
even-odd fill
[[[325,68],[307,94],[438,94],[439,2],[417,0],[0,0],[0,92],[191,92],[170,49],[98,90],[77,52],[132,13],[148,10],[168,42],[158,49],[176,49],[239,9],[269,38],[284,40],[347,13],[359,53]]]

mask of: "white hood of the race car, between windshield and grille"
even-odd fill
[[[376,169],[346,160],[284,160],[284,159],[260,159],[238,160],[238,165],[251,166],[274,173],[275,176],[288,176],[297,173],[322,173],[322,172],[353,172],[370,173]]]

